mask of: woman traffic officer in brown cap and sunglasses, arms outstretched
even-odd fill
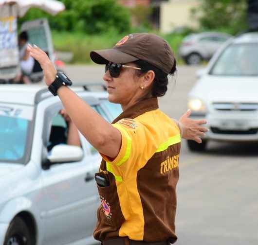
[[[166,40],[153,34],[130,34],[112,49],[91,52],[105,64],[103,77],[109,101],[123,112],[112,124],[105,121],[66,85],[47,55],[29,47],[45,74],[46,85],[61,99],[83,136],[103,159],[95,175],[101,206],[94,238],[103,245],[167,245],[175,234],[176,184],[181,136],[201,142],[202,124],[181,118],[182,126],[158,107],[167,90],[176,60]]]

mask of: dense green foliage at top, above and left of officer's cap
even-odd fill
[[[31,9],[19,23],[37,18],[48,18],[50,27],[58,31],[83,31],[99,34],[130,29],[129,10],[116,0],[61,0],[66,10],[51,16],[39,9]]]

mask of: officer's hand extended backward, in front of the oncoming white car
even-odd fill
[[[189,118],[191,110],[187,110],[184,115],[179,119],[179,122],[183,124],[183,138],[186,140],[195,140],[197,143],[202,143],[202,137],[208,132],[208,129],[203,124],[206,124],[206,120],[193,120]]]

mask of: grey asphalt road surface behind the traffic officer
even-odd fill
[[[180,66],[159,100],[170,117],[186,111],[186,95],[201,67]],[[103,66],[68,66],[76,84],[101,82]],[[258,245],[258,144],[210,142],[192,153],[186,142],[177,188],[177,245]]]

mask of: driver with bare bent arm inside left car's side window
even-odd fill
[[[48,152],[50,152],[52,148],[58,144],[68,144],[68,145],[75,145],[75,146],[81,147],[78,129],[76,128],[75,124],[72,122],[66,110],[61,109],[59,111],[59,114],[65,120],[67,128],[59,125],[58,126],[52,125],[49,143],[47,146]]]

